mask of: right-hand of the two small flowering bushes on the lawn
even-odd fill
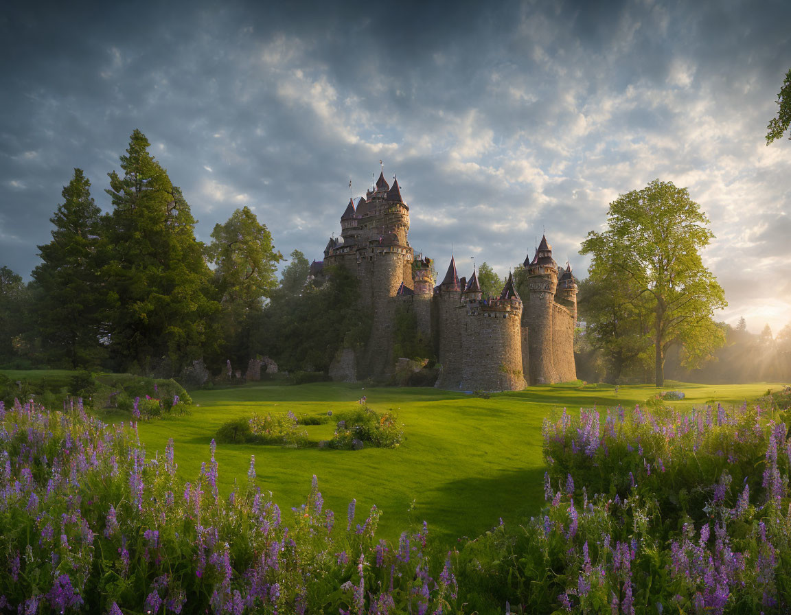
[[[330,440],[333,448],[358,450],[365,444],[380,448],[395,448],[403,441],[403,424],[392,409],[378,413],[368,406],[352,412],[340,413],[335,435]]]

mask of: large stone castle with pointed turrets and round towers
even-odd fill
[[[350,200],[341,216],[341,236],[331,237],[323,261],[313,261],[310,276],[324,267],[356,273],[361,301],[373,321],[362,349],[343,349],[330,368],[333,379],[381,379],[392,372],[395,317],[405,310],[428,339],[441,364],[436,387],[465,391],[517,391],[530,384],[576,379],[573,335],[577,284],[571,267],[559,267],[542,237],[533,258],[509,274],[499,296],[485,297],[475,270],[459,277],[451,257],[447,273],[434,286],[429,258],[415,260],[407,240],[409,207],[398,180],[384,171],[365,197]],[[518,286],[518,289],[517,289]]]

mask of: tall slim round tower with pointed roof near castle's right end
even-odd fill
[[[527,327],[530,383],[559,382],[553,357],[553,305],[558,287],[558,265],[552,258],[552,247],[547,237],[541,238],[536,256],[528,265],[530,297],[522,314],[522,326]]]

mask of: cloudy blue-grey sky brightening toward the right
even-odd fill
[[[410,243],[499,274],[560,263],[609,203],[687,187],[719,320],[791,321],[791,142],[766,124],[791,2],[14,2],[0,13],[0,266],[29,278],[75,167],[104,194],[138,128],[210,240],[249,206],[322,258],[350,195],[397,175]],[[287,5],[287,6],[286,6]],[[352,190],[349,182],[352,182]]]

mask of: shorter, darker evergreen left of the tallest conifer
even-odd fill
[[[48,363],[72,368],[97,364],[103,353],[99,226],[101,209],[90,181],[74,169],[63,202],[50,218],[52,240],[39,246],[41,264],[33,270],[34,304],[42,355]]]

